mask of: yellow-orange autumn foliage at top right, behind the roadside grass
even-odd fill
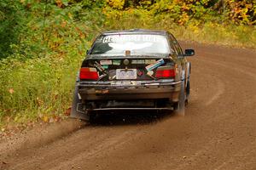
[[[236,24],[255,25],[255,0],[107,0],[113,9],[127,10],[128,8],[146,8],[152,14],[167,14],[178,24],[185,24],[191,18],[207,21],[231,21]]]

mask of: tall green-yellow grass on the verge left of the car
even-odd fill
[[[6,123],[3,117],[10,117],[15,122],[27,122],[38,117],[61,116],[70,105],[82,58],[81,54],[67,54],[66,58],[45,56],[26,62],[14,59],[2,64],[1,124]]]

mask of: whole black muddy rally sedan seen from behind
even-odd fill
[[[106,31],[96,38],[76,82],[72,117],[98,111],[174,110],[184,114],[190,63],[168,31]]]

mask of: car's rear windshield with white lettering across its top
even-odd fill
[[[102,35],[96,39],[90,54],[131,55],[170,54],[165,36],[152,34]]]

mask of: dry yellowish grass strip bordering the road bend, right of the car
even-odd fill
[[[238,48],[256,48],[256,29],[253,27],[207,23],[204,26],[174,26],[173,31],[181,40]]]

